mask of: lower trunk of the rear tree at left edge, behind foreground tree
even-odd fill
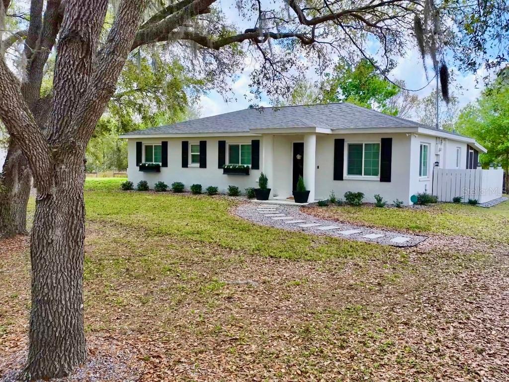
[[[28,162],[11,140],[0,174],[0,238],[26,234],[26,205],[31,183]]]

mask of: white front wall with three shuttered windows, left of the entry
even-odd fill
[[[257,187],[258,177],[261,170],[249,170],[249,175],[223,175],[222,169],[217,167],[218,161],[218,141],[227,142],[227,160],[228,160],[228,144],[233,143],[251,143],[252,139],[260,139],[261,137],[201,137],[201,138],[145,138],[128,140],[128,157],[127,157],[127,177],[134,186],[140,180],[146,180],[150,188],[154,188],[154,184],[158,181],[163,181],[171,187],[173,182],[182,182],[185,188],[193,183],[202,185],[205,188],[208,186],[219,187],[219,192],[225,193],[229,185],[236,185],[244,193],[246,187]],[[168,142],[168,167],[161,167],[160,173],[147,173],[138,170],[136,166],[136,142],[143,142],[143,144],[161,144],[162,141]],[[183,168],[182,167],[182,141],[189,141],[190,143],[199,143],[200,141],[207,141],[207,168],[201,169],[199,167]],[[262,143],[262,142],[260,142]],[[227,161],[228,162],[228,161]],[[262,168],[263,153],[260,150],[260,167]],[[270,182],[270,179],[269,179]],[[269,183],[270,186],[270,183]]]

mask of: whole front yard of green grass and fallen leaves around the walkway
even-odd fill
[[[126,362],[143,363],[140,378],[125,379],[505,377],[509,270],[490,248],[430,238],[396,249],[288,232],[232,215],[240,199],[123,192],[122,181],[86,181],[84,312],[92,358],[115,360],[121,350]],[[29,207],[32,214],[33,199]],[[494,230],[507,216],[506,206],[317,210],[377,224],[418,216],[426,229],[437,213],[493,219]],[[25,357],[28,245],[0,242],[0,379],[5,354]]]

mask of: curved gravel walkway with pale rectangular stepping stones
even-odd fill
[[[239,206],[236,213],[243,219],[265,226],[315,235],[376,242],[393,245],[394,247],[413,247],[428,238],[422,235],[407,235],[400,232],[320,219],[306,214],[305,207],[301,209],[297,205],[271,205],[251,202]]]

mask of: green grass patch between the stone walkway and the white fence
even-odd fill
[[[491,208],[439,203],[426,208],[332,206],[309,211],[329,219],[375,227],[509,242],[509,201]]]

